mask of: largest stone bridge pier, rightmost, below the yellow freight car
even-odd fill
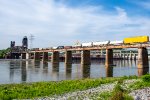
[[[138,48],[138,68],[149,67],[148,52],[146,48]]]

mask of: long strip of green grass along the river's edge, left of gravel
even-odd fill
[[[137,77],[121,78],[100,78],[100,79],[82,79],[66,80],[60,82],[36,82],[24,84],[5,84],[0,85],[0,99],[27,99],[43,96],[53,96],[73,92],[76,90],[85,90],[100,86],[101,84],[122,81],[125,79],[135,79]]]

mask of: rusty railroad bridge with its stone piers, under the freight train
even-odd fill
[[[48,60],[48,52],[52,52],[51,62],[53,64],[59,63],[59,53],[65,52],[65,63],[72,63],[72,52],[81,51],[81,64],[91,64],[90,51],[91,50],[106,50],[105,65],[106,67],[113,65],[113,50],[122,48],[137,48],[138,49],[138,68],[149,67],[148,64],[148,51],[150,47],[149,43],[132,44],[132,45],[108,45],[108,46],[93,46],[93,47],[75,47],[68,49],[46,49],[46,50],[28,50],[21,52],[22,59],[31,59],[33,55],[34,60],[40,60],[40,54],[42,53],[42,60]],[[120,55],[125,56],[125,55]],[[130,55],[132,56],[132,54]]]

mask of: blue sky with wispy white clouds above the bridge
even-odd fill
[[[0,49],[31,34],[32,48],[150,36],[150,0],[0,0]]]

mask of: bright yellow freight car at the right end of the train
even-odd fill
[[[124,44],[144,43],[149,42],[149,36],[136,36],[124,38]]]

